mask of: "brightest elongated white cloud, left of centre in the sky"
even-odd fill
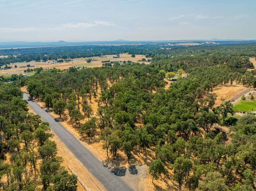
[[[109,27],[109,26],[115,26],[115,24],[107,21],[94,21],[92,23],[67,23],[62,25],[62,27],[65,27],[65,28],[88,28],[88,27],[97,27],[97,26]]]

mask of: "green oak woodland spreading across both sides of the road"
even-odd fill
[[[43,102],[60,119],[69,120],[81,137],[98,139],[109,160],[118,160],[124,153],[122,160],[132,164],[135,156],[154,153],[149,164],[153,183],[164,177],[179,190],[254,191],[256,118],[234,115],[230,102],[215,106],[212,90],[232,83],[256,88],[256,71],[248,70],[254,68],[249,56],[256,56],[256,45],[161,48],[66,47],[52,55],[51,48],[45,52],[38,48],[34,53],[24,50],[16,58],[3,58],[5,64],[34,56],[40,60],[43,55],[56,59],[128,52],[148,55],[152,61],[50,69],[2,83],[0,172],[8,179],[2,187],[29,190],[39,184],[43,190],[58,190],[60,180],[66,180],[63,176],[70,176],[67,190],[76,189],[76,178],[62,169],[56,156],[49,125],[30,114],[21,99],[18,87],[26,86],[32,99]],[[165,74],[178,70],[187,77],[165,88]],[[7,156],[10,164],[4,162]]]

